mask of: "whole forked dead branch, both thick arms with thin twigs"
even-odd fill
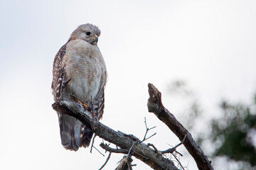
[[[181,125],[181,123],[176,120],[173,114],[171,114],[166,108],[164,108],[161,102],[161,92],[159,92],[153,84],[149,84],[149,96],[149,112],[154,113],[156,117],[159,118],[159,120],[161,120],[163,123],[165,123],[170,128],[170,130],[174,132],[174,134],[179,138],[179,140],[181,140],[181,143],[176,145],[176,147],[183,144],[188,152],[195,159],[198,169],[212,170],[213,167],[208,161],[208,158],[206,157],[198,143],[193,140],[193,137],[188,132],[188,130],[186,130],[186,128],[184,128],[183,125]],[[128,169],[132,169],[132,156],[140,159],[145,164],[148,164],[149,166],[151,166],[152,169],[177,169],[177,167],[174,166],[174,162],[172,162],[170,159],[166,159],[162,155],[165,153],[172,154],[172,152],[175,151],[176,147],[167,149],[166,151],[158,151],[156,147],[154,147],[154,145],[149,144],[149,146],[154,147],[154,149],[151,149],[151,147],[143,143],[145,140],[149,139],[149,137],[146,137],[146,134],[149,130],[152,129],[147,128],[146,120],[146,133],[144,135],[144,139],[142,141],[139,141],[139,139],[134,135],[127,135],[120,131],[114,131],[106,125],[98,122],[97,120],[93,120],[95,118],[92,118],[92,114],[88,111],[85,111],[85,109],[79,103],[72,101],[56,101],[55,103],[53,103],[53,109],[59,113],[67,114],[73,116],[74,118],[77,118],[78,120],[80,120],[81,123],[86,125],[87,128],[90,128],[92,132],[95,133],[95,135],[101,137],[104,140],[107,140],[114,145],[117,145],[119,149],[113,149],[103,143],[100,146],[110,153],[115,152],[127,154],[127,159],[123,159],[123,161],[127,162],[125,164],[127,164]],[[150,137],[154,135],[151,135]],[[109,154],[109,157],[107,158],[105,164],[107,164],[107,161],[110,159],[110,155],[111,154]],[[102,168],[104,166],[102,166]]]

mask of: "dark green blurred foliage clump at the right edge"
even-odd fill
[[[226,156],[256,165],[256,96],[250,106],[221,103],[223,116],[211,121],[210,140],[217,149],[213,157]]]

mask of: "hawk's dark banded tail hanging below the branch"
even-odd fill
[[[89,128],[83,128],[84,125],[70,115],[58,113],[58,117],[60,124],[60,139],[65,149],[77,151],[79,147],[88,147],[90,145],[93,133]]]

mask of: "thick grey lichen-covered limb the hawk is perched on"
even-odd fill
[[[134,135],[127,135],[120,131],[116,132],[97,120],[93,120],[92,114],[85,111],[85,109],[79,103],[72,101],[56,101],[53,103],[53,109],[59,113],[78,118],[81,123],[90,129],[94,127],[92,132],[94,132],[97,136],[113,143],[114,145],[117,145],[122,149],[129,150],[134,142],[138,140],[138,138],[134,137]],[[151,149],[143,142],[138,142],[136,145],[134,145],[132,147],[131,154],[145,164],[151,166],[152,169],[177,169],[176,166],[174,166],[174,162],[172,162],[170,159],[164,158],[161,154],[156,153],[154,149]]]

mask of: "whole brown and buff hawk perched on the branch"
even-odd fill
[[[102,118],[107,69],[97,46],[100,29],[90,23],[78,26],[55,55],[51,85],[54,101],[75,101]],[[63,88],[65,84],[65,88]],[[92,131],[80,120],[58,113],[60,139],[65,149],[88,147]]]

